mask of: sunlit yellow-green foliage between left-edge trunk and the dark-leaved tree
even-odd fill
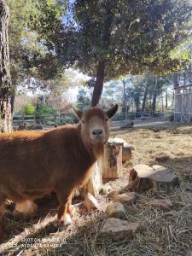
[[[13,84],[19,84],[23,79],[31,77],[41,80],[54,79],[62,70],[61,63],[54,52],[42,41],[38,41],[38,33],[30,26],[30,17],[42,15],[42,10],[38,8],[42,2],[55,12],[55,17],[63,14],[65,4],[52,0],[6,2],[10,9],[9,49]]]

